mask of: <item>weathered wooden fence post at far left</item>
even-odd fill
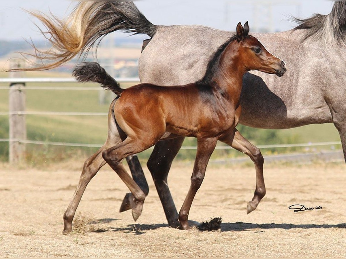
[[[12,68],[19,68],[20,64],[11,64]],[[11,72],[11,78],[22,77],[21,72]],[[18,140],[26,140],[25,115],[25,83],[11,83],[9,91],[9,162],[21,163],[25,159],[25,144]],[[11,114],[14,113],[14,114]],[[19,113],[19,114],[17,114]]]

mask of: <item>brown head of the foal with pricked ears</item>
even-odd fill
[[[286,72],[285,62],[270,54],[260,41],[248,35],[248,33],[248,22],[244,24],[244,27],[239,22],[235,36],[236,40],[232,44],[232,51],[237,51],[235,57],[239,61],[238,64],[243,64],[247,71],[259,70],[282,76]]]

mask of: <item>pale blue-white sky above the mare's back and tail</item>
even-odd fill
[[[272,3],[272,6],[266,3]],[[64,17],[75,4],[76,2],[71,1],[1,1],[0,39],[43,39],[33,25],[35,19],[30,18],[21,8],[43,12],[51,10],[58,17]],[[289,30],[294,27],[294,23],[285,20],[289,15],[307,18],[313,13],[327,14],[332,4],[330,1],[136,2],[138,9],[156,25],[200,24],[230,31],[235,30],[239,21],[249,21],[250,31],[264,26],[272,28],[273,31]]]

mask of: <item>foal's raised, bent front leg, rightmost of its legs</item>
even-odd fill
[[[258,203],[265,195],[265,185],[263,179],[263,156],[258,147],[246,140],[236,129],[233,134],[222,136],[220,141],[230,145],[234,149],[247,154],[255,164],[256,169],[256,190],[254,197],[247,203],[247,214],[257,208]]]

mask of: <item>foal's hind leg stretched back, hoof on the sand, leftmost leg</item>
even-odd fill
[[[120,138],[118,139],[121,142]],[[73,194],[72,200],[67,207],[63,219],[64,219],[64,230],[63,234],[69,234],[72,231],[72,221],[76,209],[81,201],[82,195],[85,191],[86,185],[91,181],[91,179],[96,175],[100,168],[106,164],[106,161],[102,158],[102,152],[106,148],[113,146],[115,143],[107,141],[95,154],[90,156],[83,165],[83,171],[81,173],[77,188]]]

